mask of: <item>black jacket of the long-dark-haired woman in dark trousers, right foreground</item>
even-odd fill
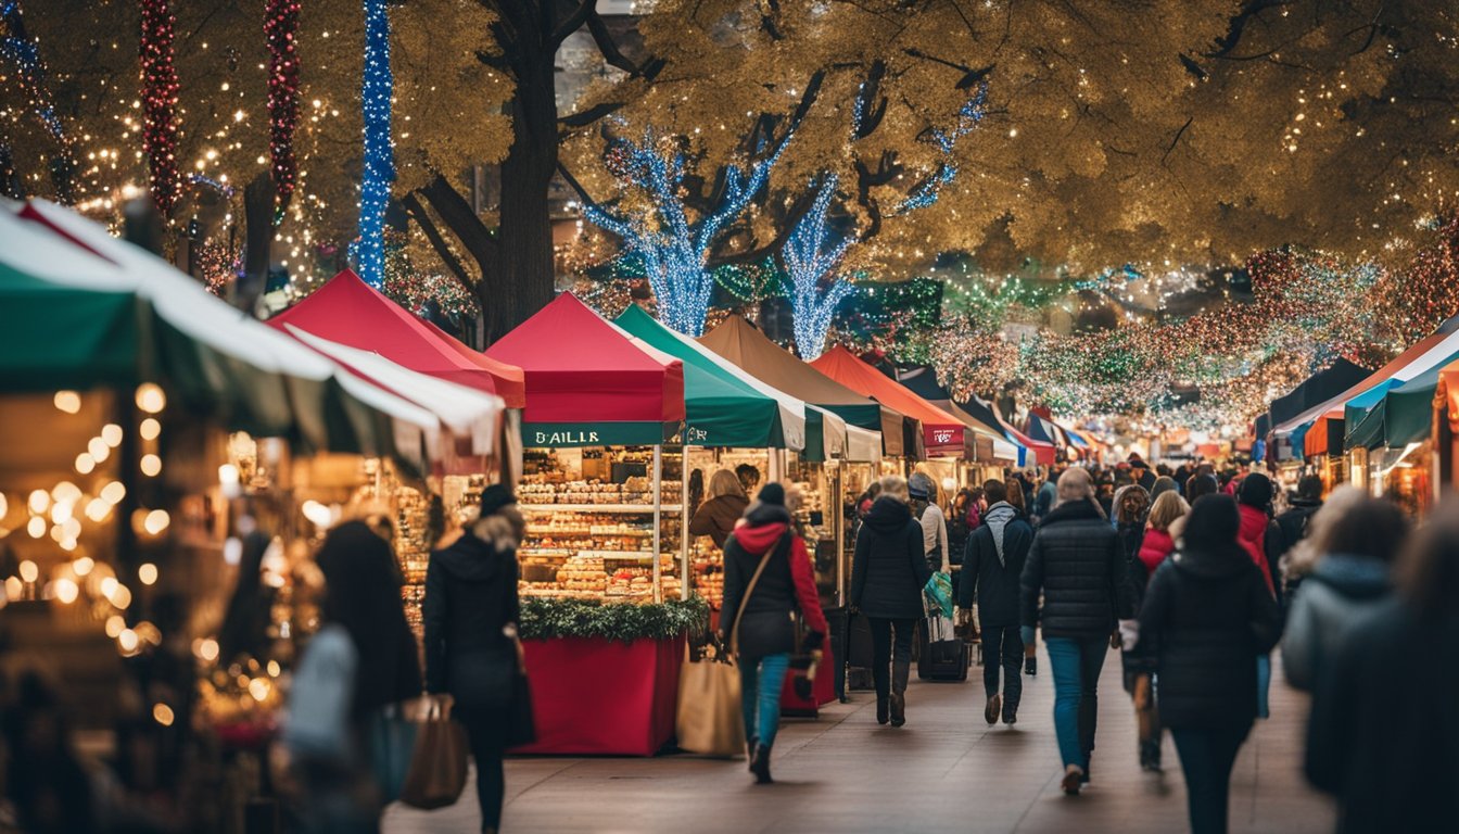
[[[1281,612],[1239,545],[1183,552],[1150,578],[1139,640],[1158,646],[1160,720],[1245,727],[1256,719],[1256,657],[1281,637]]]

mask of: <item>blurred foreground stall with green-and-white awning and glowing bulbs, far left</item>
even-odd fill
[[[83,729],[101,730],[83,743],[133,778],[174,784],[191,761],[184,752],[222,755],[219,781],[209,783],[217,828],[245,799],[267,795],[267,780],[232,778],[258,774],[257,764],[226,762],[267,761],[283,675],[314,619],[292,596],[290,565],[308,558],[289,540],[296,508],[273,495],[248,507],[239,498],[296,453],[371,454],[422,472],[457,431],[476,435],[477,451],[499,453],[490,426],[502,402],[404,371],[387,390],[55,206],[0,212],[0,426],[28,437],[0,444],[0,529],[25,530],[0,536],[19,562],[0,643],[58,667],[70,694],[92,704]],[[449,413],[400,393],[414,383],[448,386]],[[470,410],[473,399],[484,413]],[[36,435],[36,425],[47,431]],[[239,467],[231,431],[277,440],[251,443],[251,463]],[[244,517],[286,546],[245,536]],[[220,624],[249,548],[239,536],[267,545],[248,564],[276,603],[257,635],[274,649],[235,656],[236,634]],[[120,665],[102,672],[107,656]],[[146,689],[133,689],[140,676]],[[117,724],[130,727],[124,745],[107,741]]]

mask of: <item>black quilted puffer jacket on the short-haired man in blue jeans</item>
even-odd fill
[[[1100,638],[1134,613],[1125,586],[1119,535],[1093,501],[1059,504],[1039,526],[1023,568],[1023,625],[1039,619],[1043,635]]]

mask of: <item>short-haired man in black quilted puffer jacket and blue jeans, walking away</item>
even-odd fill
[[[1040,618],[1043,622],[1062,787],[1074,796],[1090,780],[1099,675],[1109,649],[1118,646],[1118,622],[1129,619],[1129,600],[1119,536],[1094,502],[1088,472],[1065,472],[1058,494],[1059,502],[1033,537],[1023,568],[1020,619],[1024,643],[1033,641],[1034,625]]]

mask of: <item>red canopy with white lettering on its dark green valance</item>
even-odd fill
[[[684,367],[565,292],[492,345],[527,374],[527,445],[651,445],[684,419]],[[668,434],[673,434],[670,431]]]

